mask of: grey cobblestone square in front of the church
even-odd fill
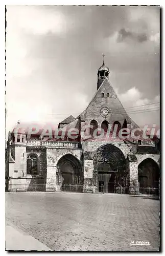
[[[147,197],[6,193],[6,221],[52,250],[159,250],[159,200]]]

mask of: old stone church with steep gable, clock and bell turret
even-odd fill
[[[63,138],[54,132],[46,138],[42,131],[28,138],[20,123],[16,133],[15,129],[9,132],[6,191],[145,194],[150,188],[153,194],[159,193],[157,143],[141,136],[142,130],[113,90],[104,61],[97,75],[96,93],[87,108],[78,117],[69,116],[59,123],[58,131],[65,130]],[[79,131],[77,136],[68,136],[70,128]],[[135,130],[138,136],[133,138]],[[82,131],[89,136],[84,138]],[[103,136],[99,131],[104,131]],[[121,131],[129,131],[128,136],[120,136]]]

